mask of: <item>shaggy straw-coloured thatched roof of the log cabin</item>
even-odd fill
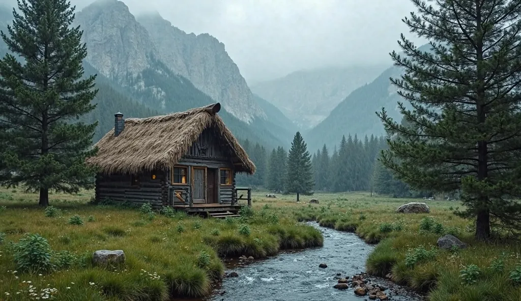
[[[216,114],[220,104],[149,118],[128,118],[125,130],[110,130],[96,143],[98,153],[87,159],[104,173],[139,173],[175,165],[203,130],[213,127],[229,146],[237,171],[255,172],[255,165]]]

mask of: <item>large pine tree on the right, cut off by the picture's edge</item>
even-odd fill
[[[462,191],[478,240],[491,224],[521,229],[521,1],[412,0],[404,22],[429,39],[430,52],[401,36],[403,68],[391,79],[412,110],[410,127],[379,117],[390,135],[383,164],[415,190]],[[399,159],[398,161],[395,160]]]

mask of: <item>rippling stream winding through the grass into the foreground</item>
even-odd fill
[[[367,300],[368,296],[356,296],[351,287],[340,291],[333,289],[333,285],[339,278],[350,278],[365,271],[365,260],[374,246],[366,244],[353,233],[320,227],[318,223],[309,224],[324,235],[323,247],[283,252],[261,261],[230,265],[227,272],[237,272],[239,277],[225,278],[220,290],[208,300]],[[319,268],[321,263],[328,267]],[[338,273],[341,275],[338,276]],[[385,293],[390,300],[423,300],[421,296],[387,280],[368,279],[388,287]]]

